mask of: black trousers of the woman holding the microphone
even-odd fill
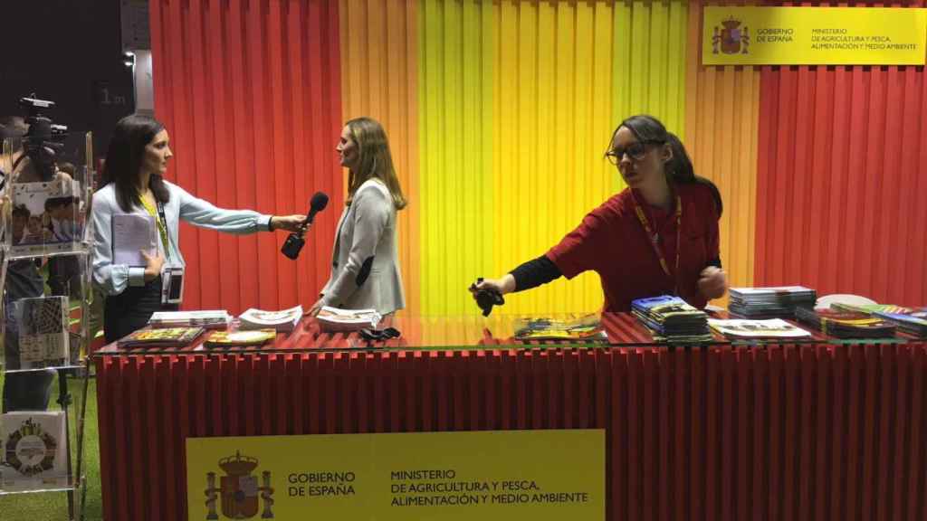
[[[119,295],[108,296],[103,311],[107,343],[145,327],[155,311],[176,311],[177,308],[177,304],[161,304],[161,277],[145,286],[129,286]]]

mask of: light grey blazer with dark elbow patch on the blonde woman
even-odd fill
[[[326,306],[373,308],[381,314],[405,307],[396,238],[396,207],[386,185],[362,184],[338,220],[332,276],[322,290]]]

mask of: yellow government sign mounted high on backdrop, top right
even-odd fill
[[[927,9],[705,6],[704,65],[924,65]]]

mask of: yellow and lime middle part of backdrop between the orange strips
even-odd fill
[[[603,160],[617,121],[651,112],[682,132],[688,10],[678,1],[420,7],[421,310],[473,313],[463,289],[476,276],[537,257],[623,188]],[[640,40],[649,47],[632,44]],[[588,273],[506,309],[601,304]]]

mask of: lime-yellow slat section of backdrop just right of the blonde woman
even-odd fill
[[[420,3],[418,226],[420,310],[472,311],[465,288],[490,275],[492,211],[491,4]]]

